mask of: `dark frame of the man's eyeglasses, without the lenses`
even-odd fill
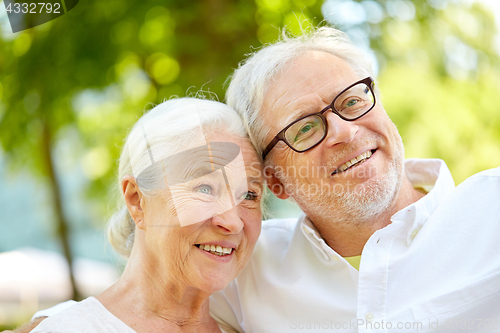
[[[347,90],[351,89],[352,87],[354,87],[355,85],[358,85],[360,83],[364,83],[366,84],[366,86],[370,89],[371,93],[372,93],[372,96],[373,96],[373,105],[368,109],[366,110],[362,115],[360,116],[357,116],[356,118],[353,118],[353,119],[348,119],[348,118],[345,118],[344,116],[342,116],[340,114],[340,112],[335,108],[334,104],[335,104],[335,101],[337,100],[337,98],[339,98],[343,93],[345,93]],[[355,121],[355,120],[358,120],[359,118],[363,117],[364,115],[366,115],[368,112],[370,112],[374,107],[375,105],[377,104],[377,99],[375,97],[375,91],[374,91],[374,88],[375,88],[375,81],[373,80],[373,78],[371,76],[368,76],[368,77],[365,77],[364,79],[361,79],[359,81],[356,81],[354,82],[353,84],[351,84],[350,86],[348,86],[347,88],[345,88],[344,90],[342,90],[340,93],[337,94],[337,96],[335,96],[335,98],[332,100],[332,102],[330,104],[328,104],[325,108],[323,108],[321,111],[319,112],[315,112],[315,113],[310,113],[310,114],[307,114],[305,116],[302,116],[298,119],[295,119],[294,121],[292,121],[290,124],[286,125],[285,128],[283,128],[281,131],[279,131],[278,134],[276,134],[276,136],[271,140],[271,142],[269,142],[269,144],[267,145],[267,147],[264,149],[264,151],[262,152],[262,160],[265,160],[266,156],[269,154],[269,152],[274,148],[274,146],[276,146],[276,144],[280,141],[283,141],[288,147],[290,147],[293,151],[297,152],[297,153],[304,153],[314,147],[316,147],[317,145],[319,145],[321,142],[323,142],[323,140],[326,138],[326,136],[328,135],[328,121],[327,119],[325,118],[324,116],[324,113],[326,111],[328,111],[329,109],[332,109],[332,112],[334,114],[336,114],[337,116],[340,117],[340,119],[342,120],[345,120],[345,121]],[[311,147],[305,149],[305,150],[297,150],[295,149],[294,147],[292,147],[292,145],[290,143],[288,143],[288,141],[286,140],[285,138],[285,132],[287,129],[289,129],[290,127],[292,127],[295,123],[297,123],[298,121],[301,121],[302,119],[304,118],[307,118],[307,117],[311,117],[311,116],[319,116],[321,118],[321,120],[323,120],[323,123],[325,125],[325,133],[323,134],[323,137],[318,141],[316,142],[314,145],[312,145]]]

